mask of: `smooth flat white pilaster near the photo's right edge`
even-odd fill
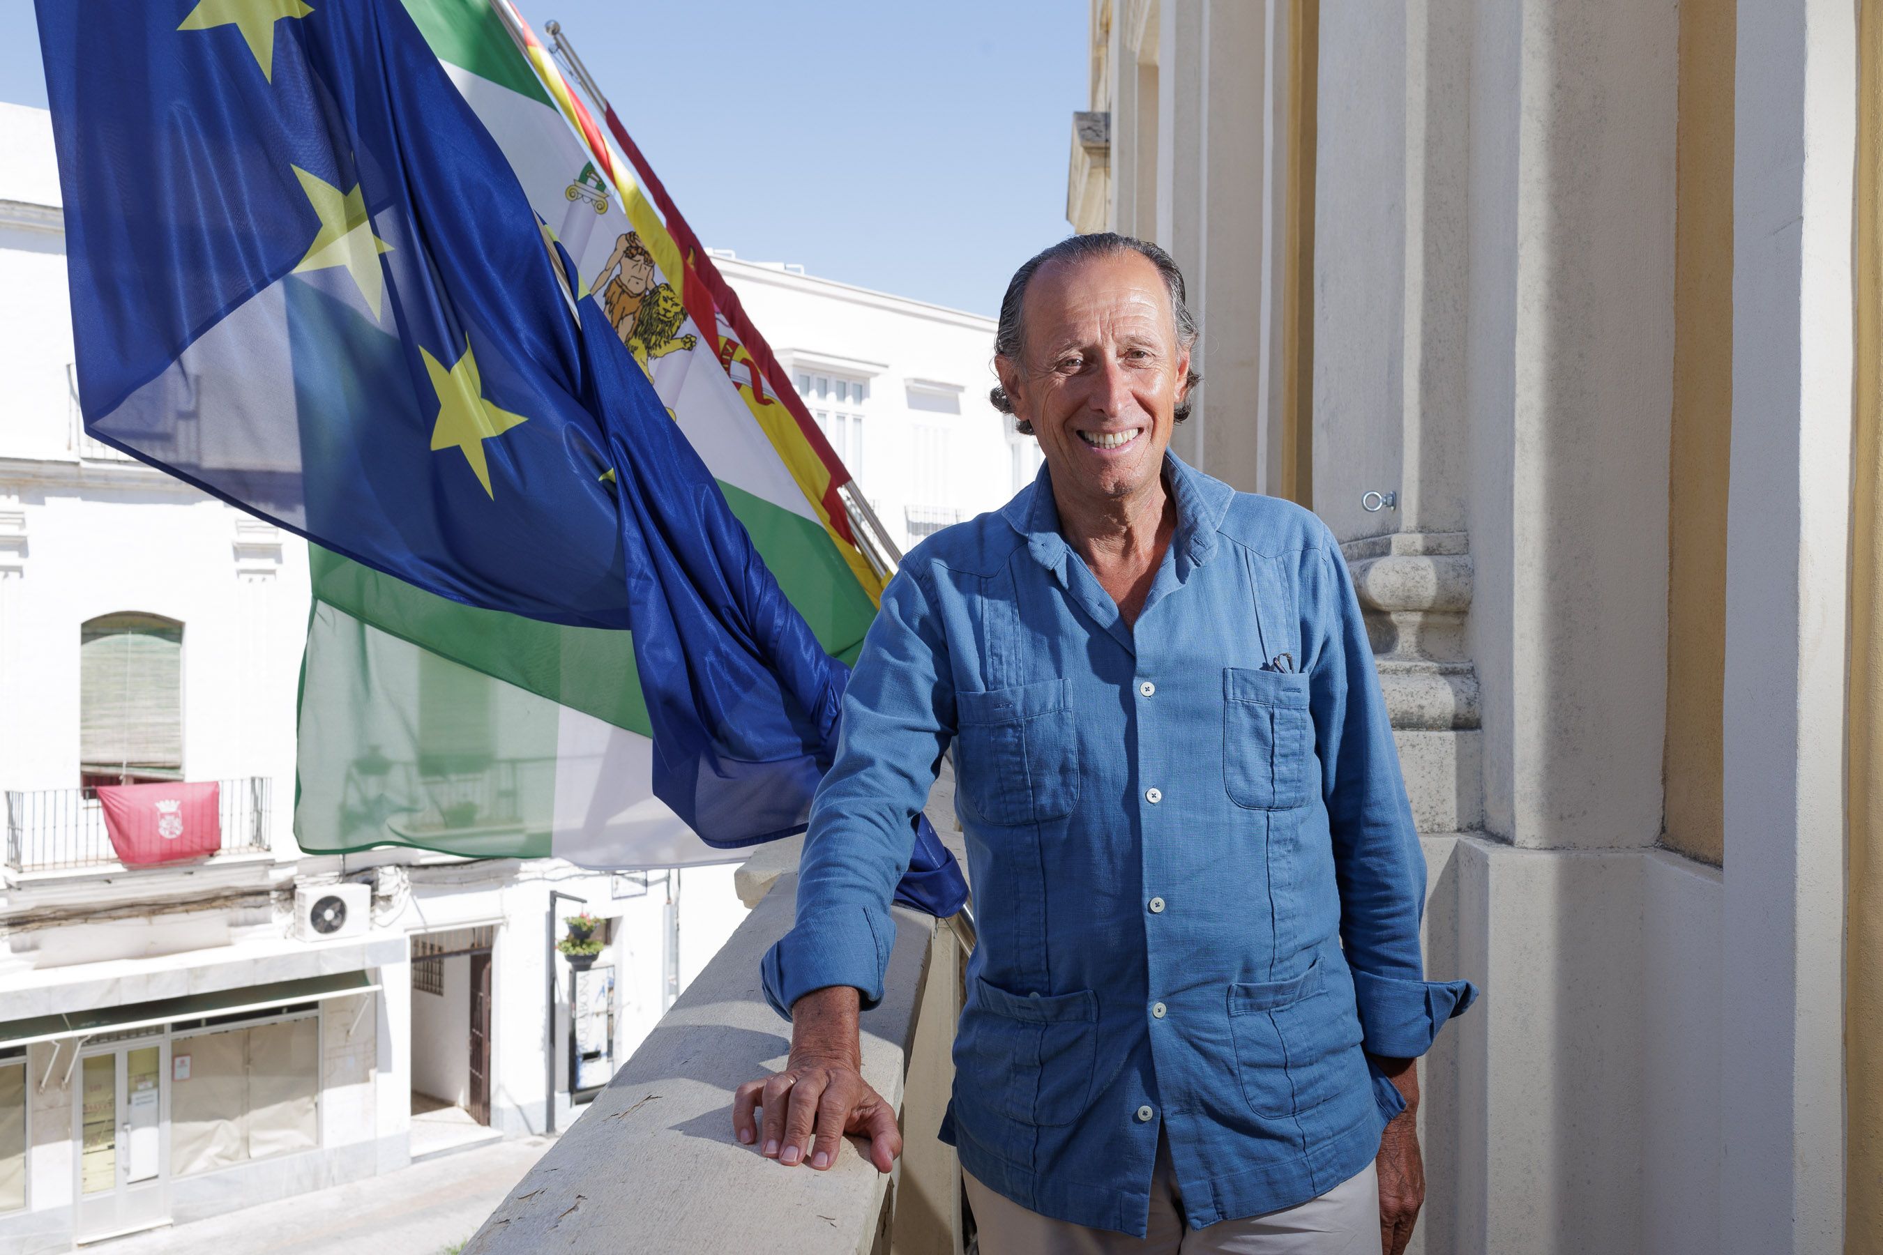
[[[1719,1249],[1802,1255],[1845,1249],[1855,8],[1740,4],[1736,60]]]

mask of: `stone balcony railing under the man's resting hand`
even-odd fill
[[[955,835],[951,796],[943,777],[928,807],[945,837]],[[862,1014],[862,1076],[902,1120],[894,1172],[879,1174],[853,1142],[817,1172],[781,1167],[732,1136],[732,1091],[781,1069],[791,1046],[791,1025],[759,992],[759,958],[791,928],[797,847],[761,847],[740,869],[751,914],[465,1255],[960,1255],[960,1168],[936,1138],[955,1080],[962,988],[962,945],[949,922],[894,909],[883,1001]]]

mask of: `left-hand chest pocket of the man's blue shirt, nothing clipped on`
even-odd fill
[[[955,694],[955,777],[983,824],[1043,824],[1079,800],[1079,736],[1064,679]]]

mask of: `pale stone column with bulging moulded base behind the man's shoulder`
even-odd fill
[[[1320,8],[1314,510],[1344,542],[1422,832],[1482,826],[1465,645],[1469,9]]]

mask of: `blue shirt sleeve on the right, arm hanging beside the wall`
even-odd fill
[[[1311,706],[1341,890],[1341,945],[1354,973],[1363,1048],[1410,1059],[1425,1054],[1478,992],[1469,980],[1425,980],[1425,856],[1360,598],[1331,532],[1303,555],[1301,610],[1312,642]]]

